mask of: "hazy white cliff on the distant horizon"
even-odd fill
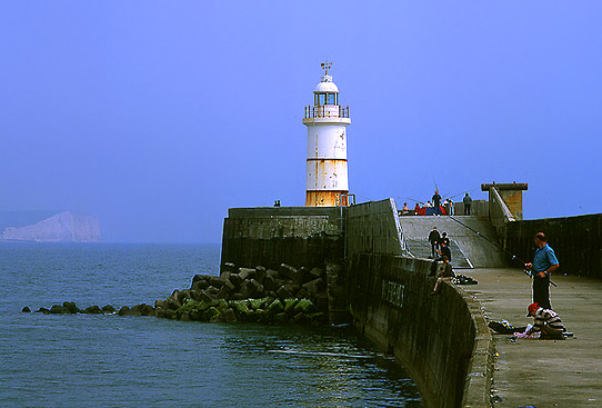
[[[97,242],[100,240],[100,223],[94,217],[66,211],[32,226],[8,227],[0,235],[0,239],[37,242]]]

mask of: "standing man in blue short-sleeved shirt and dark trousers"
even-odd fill
[[[535,256],[533,262],[525,263],[526,270],[532,270],[533,277],[533,303],[539,303],[544,309],[551,309],[550,305],[550,275],[560,268],[554,250],[548,245],[543,232],[538,232],[535,238]]]

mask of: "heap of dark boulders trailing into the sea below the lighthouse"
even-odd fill
[[[154,316],[158,318],[264,324],[322,324],[327,319],[324,272],[320,268],[294,268],[281,263],[278,270],[262,266],[237,268],[225,262],[220,276],[195,275],[190,289],[173,290],[164,300],[116,309],[112,305],[84,309],[64,301],[37,312],[117,314],[119,316]],[[22,311],[30,311],[28,307]]]

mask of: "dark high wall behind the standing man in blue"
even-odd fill
[[[520,220],[506,223],[505,249],[520,259],[531,261],[533,237],[544,232],[556,252],[556,273],[602,278],[602,215]]]

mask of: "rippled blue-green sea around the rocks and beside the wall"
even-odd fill
[[[422,407],[415,385],[342,327],[23,314],[66,300],[164,299],[218,273],[219,246],[0,245],[0,405]]]

